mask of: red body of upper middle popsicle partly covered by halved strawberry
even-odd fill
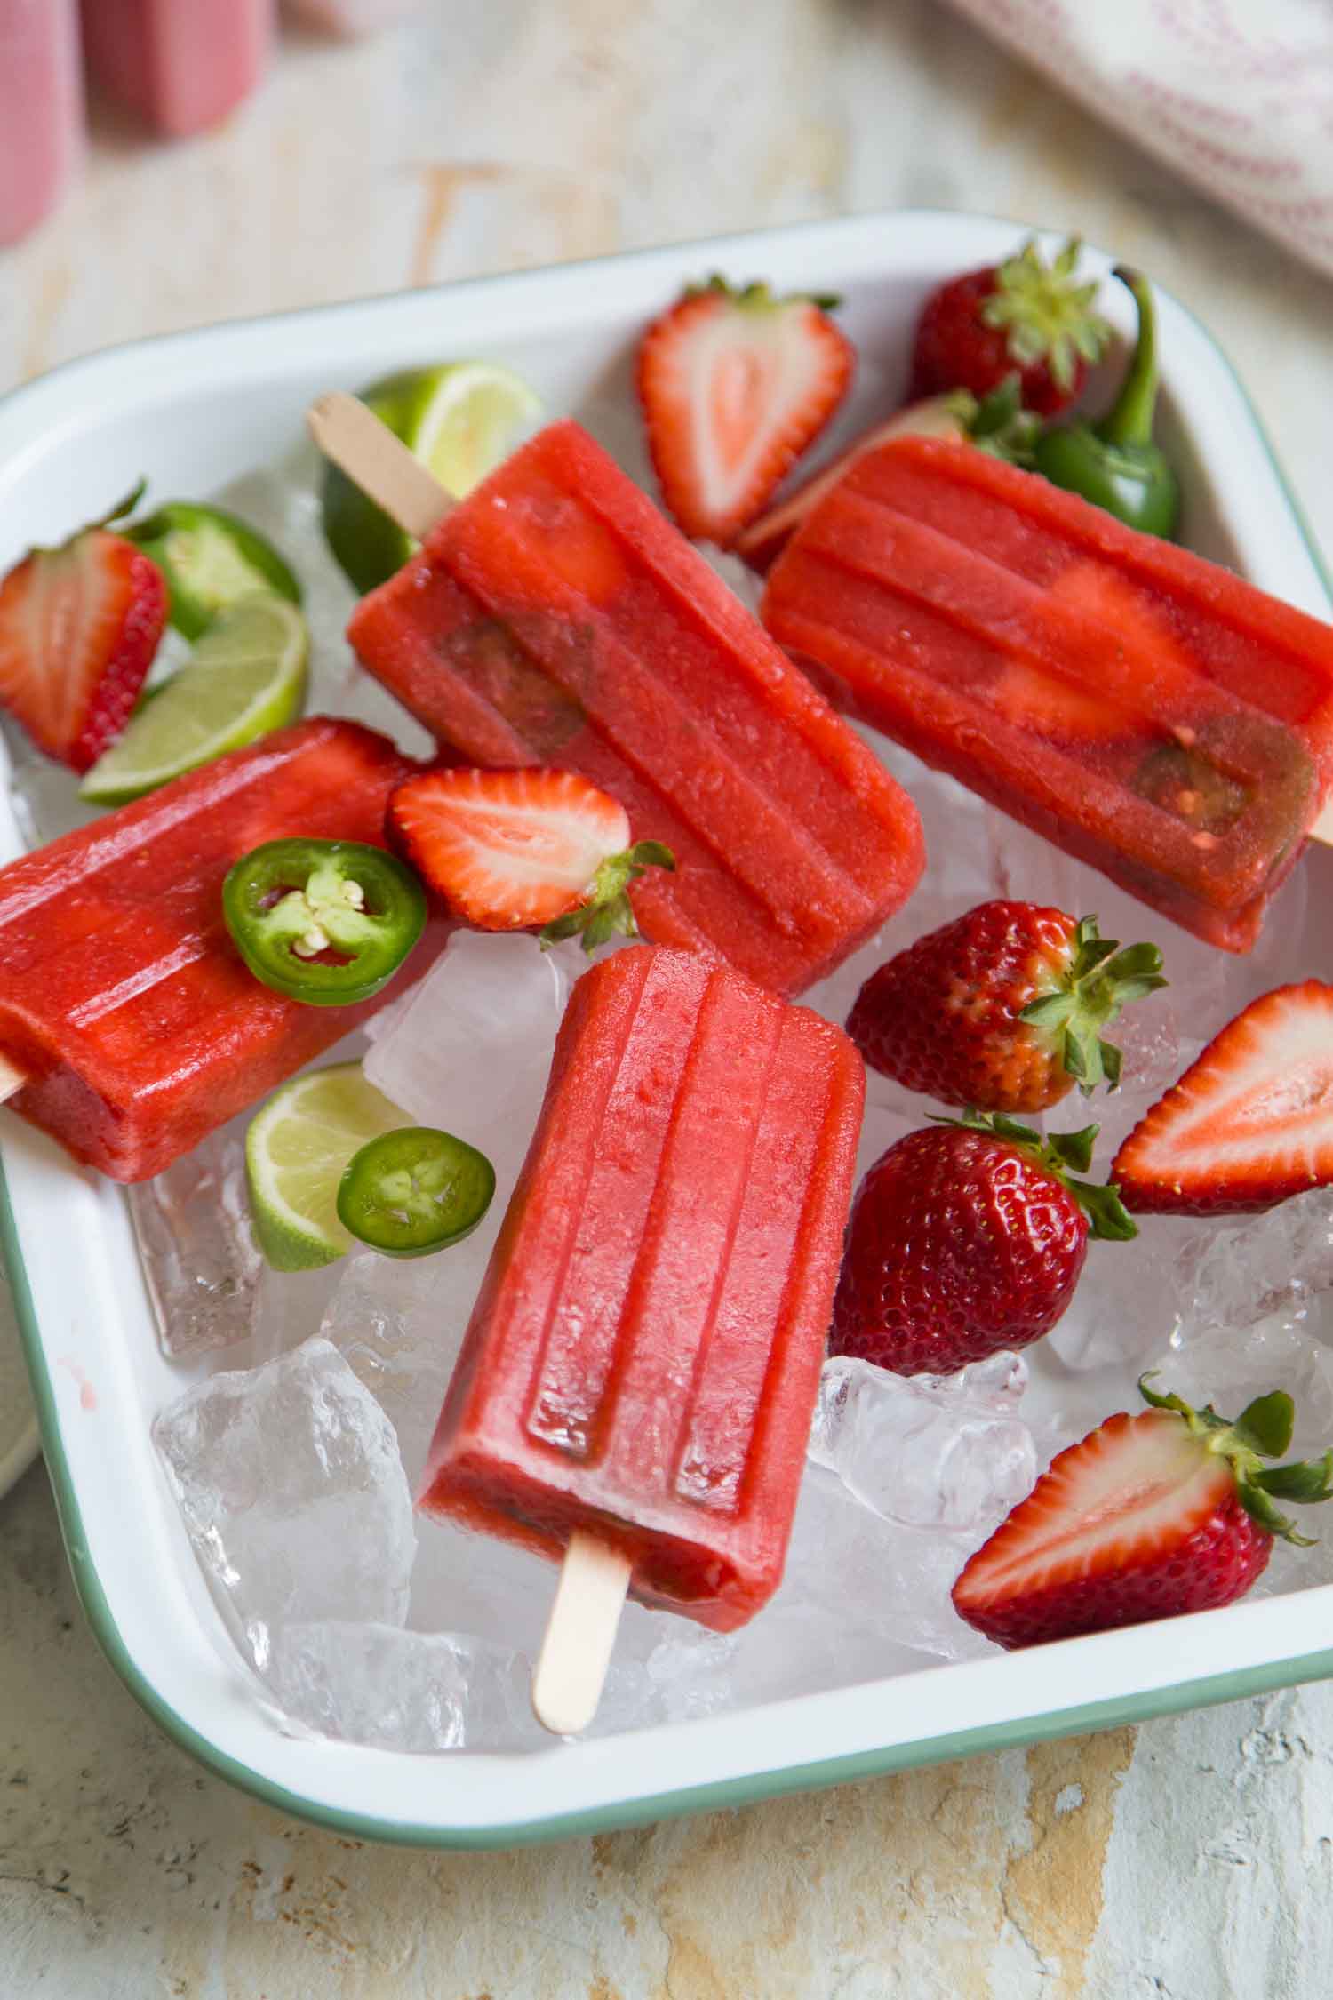
[[[348,636],[450,758],[578,770],[666,842],[675,874],[632,890],[658,944],[799,992],[917,882],[911,800],[574,422],[452,508]]]

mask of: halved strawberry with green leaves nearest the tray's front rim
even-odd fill
[[[1231,1604],[1277,1536],[1307,1546],[1275,1498],[1327,1500],[1333,1452],[1265,1466],[1291,1446],[1291,1396],[1259,1396],[1231,1424],[1147,1382],[1151,1410],[1061,1452],[965,1564],[953,1608],[997,1646]]]

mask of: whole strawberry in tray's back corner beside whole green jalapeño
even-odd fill
[[[1079,250],[1071,236],[1045,264],[1029,238],[1003,264],[937,286],[917,320],[909,400],[951,388],[989,396],[1017,368],[1025,410],[1067,410],[1111,338],[1093,310],[1097,284],[1075,280]]]

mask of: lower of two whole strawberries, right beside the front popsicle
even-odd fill
[[[1087,1238],[1135,1226],[1087,1172],[1097,1126],[1041,1140],[1011,1118],[909,1132],[857,1188],[829,1352],[953,1374],[1055,1326]]]

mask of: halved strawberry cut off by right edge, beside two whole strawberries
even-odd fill
[[[1253,1000],[1145,1112],[1111,1172],[1139,1214],[1257,1214],[1331,1186],[1333,986]]]

